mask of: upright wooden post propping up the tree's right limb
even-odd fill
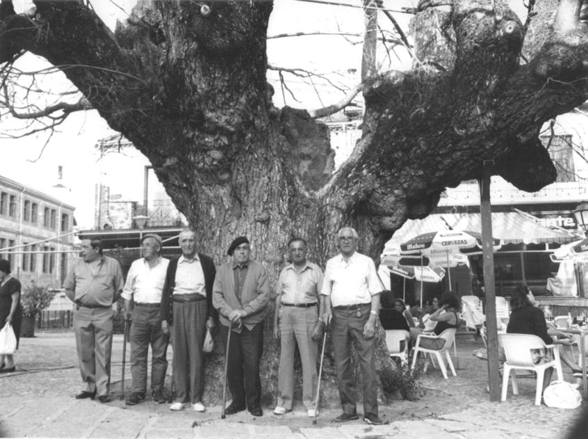
[[[480,216],[482,218],[482,257],[484,259],[484,289],[486,290],[486,328],[488,349],[488,383],[490,401],[500,401],[500,363],[498,362],[498,330],[496,323],[496,294],[494,292],[494,257],[492,246],[492,209],[490,177],[494,162],[484,160],[480,182]]]

